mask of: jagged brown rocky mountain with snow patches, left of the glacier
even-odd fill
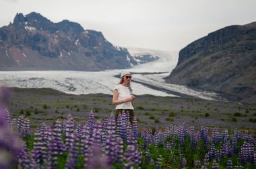
[[[135,58],[127,48],[108,42],[102,32],[68,20],[53,23],[35,12],[17,13],[12,24],[0,28],[0,71],[101,71],[157,59]]]

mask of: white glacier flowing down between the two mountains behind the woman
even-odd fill
[[[160,57],[158,61],[127,69],[132,73],[131,86],[135,95],[179,97],[185,94],[205,100],[220,99],[220,96],[214,92],[198,91],[186,86],[164,82],[163,78],[168,76],[177,65],[177,52],[145,48],[128,48],[128,50],[131,55],[150,54]],[[113,89],[119,83],[121,71],[121,69],[106,71],[0,71],[0,86],[52,88],[77,95],[113,94]]]

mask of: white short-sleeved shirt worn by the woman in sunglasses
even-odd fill
[[[119,93],[117,100],[123,100],[125,98],[131,97],[131,94],[129,92],[129,88],[125,87],[121,84],[117,85],[115,87],[115,90]],[[131,102],[124,102],[122,104],[117,104],[116,109],[131,109],[134,110],[133,105]]]

